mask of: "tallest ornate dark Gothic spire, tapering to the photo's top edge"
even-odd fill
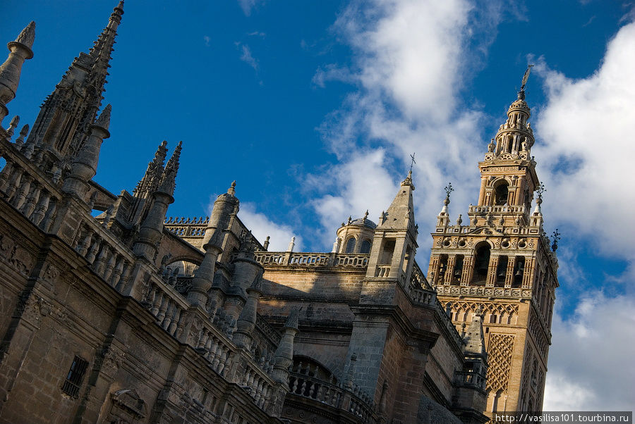
[[[82,52],[75,58],[54,92],[44,100],[28,142],[47,146],[60,158],[73,158],[78,153],[102,104],[122,15],[123,2],[120,2],[89,53]]]

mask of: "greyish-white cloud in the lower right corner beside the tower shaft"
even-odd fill
[[[590,292],[574,316],[553,320],[544,411],[624,411],[633,406],[635,299]]]

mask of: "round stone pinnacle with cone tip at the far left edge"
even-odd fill
[[[0,123],[8,115],[6,104],[16,97],[22,65],[25,60],[33,57],[31,47],[35,41],[35,22],[31,21],[20,32],[15,41],[8,43],[8,58],[0,66]]]

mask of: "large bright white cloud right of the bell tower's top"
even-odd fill
[[[536,121],[543,211],[598,242],[603,254],[635,260],[635,23],[607,45],[600,68],[571,80],[540,61],[548,103]],[[585,193],[581,197],[581,193]]]

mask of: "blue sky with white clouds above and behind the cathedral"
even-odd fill
[[[10,116],[32,124],[115,3],[0,4],[0,39],[37,23]],[[632,409],[634,6],[508,3],[128,0],[95,180],[131,191],[163,139],[183,140],[169,215],[205,215],[237,180],[259,239],[328,251],[349,215],[387,208],[416,152],[427,269],[442,187],[453,220],[476,202],[476,163],[531,61],[545,229],[563,234],[545,409]]]

